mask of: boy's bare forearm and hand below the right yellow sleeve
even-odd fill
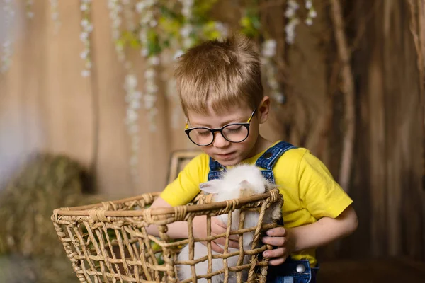
[[[347,207],[338,217],[323,217],[313,224],[294,228],[277,227],[267,231],[263,243],[277,248],[263,253],[270,265],[285,262],[290,253],[309,248],[318,248],[339,238],[350,235],[357,229],[357,215],[352,206]]]

